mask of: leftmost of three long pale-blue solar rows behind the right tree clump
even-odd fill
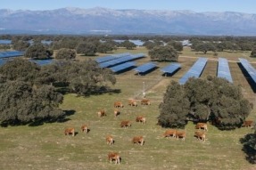
[[[202,70],[206,66],[207,58],[200,57],[195,61],[194,65],[179,79],[179,84],[184,85],[190,77],[200,77]]]

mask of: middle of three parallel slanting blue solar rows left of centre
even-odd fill
[[[127,62],[127,61],[134,61],[136,59],[140,59],[140,58],[143,58],[143,57],[145,57],[144,53],[137,53],[137,54],[132,54],[132,55],[120,57],[120,58],[115,59],[115,60],[102,62],[99,65],[100,65],[101,68],[108,68],[108,67],[112,67],[112,66]]]

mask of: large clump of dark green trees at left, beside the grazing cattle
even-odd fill
[[[0,68],[0,124],[49,122],[65,116],[58,106],[65,93],[106,93],[116,79],[111,69],[95,61],[59,61],[44,67],[26,59],[7,61]]]

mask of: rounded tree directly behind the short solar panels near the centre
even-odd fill
[[[155,46],[148,54],[153,61],[178,61],[178,53],[171,45]]]

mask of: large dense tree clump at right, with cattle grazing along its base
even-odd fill
[[[177,94],[178,93],[178,94]],[[160,104],[159,124],[184,127],[186,121],[211,122],[219,129],[243,124],[252,109],[241,88],[219,77],[190,78],[185,85],[172,82]]]

